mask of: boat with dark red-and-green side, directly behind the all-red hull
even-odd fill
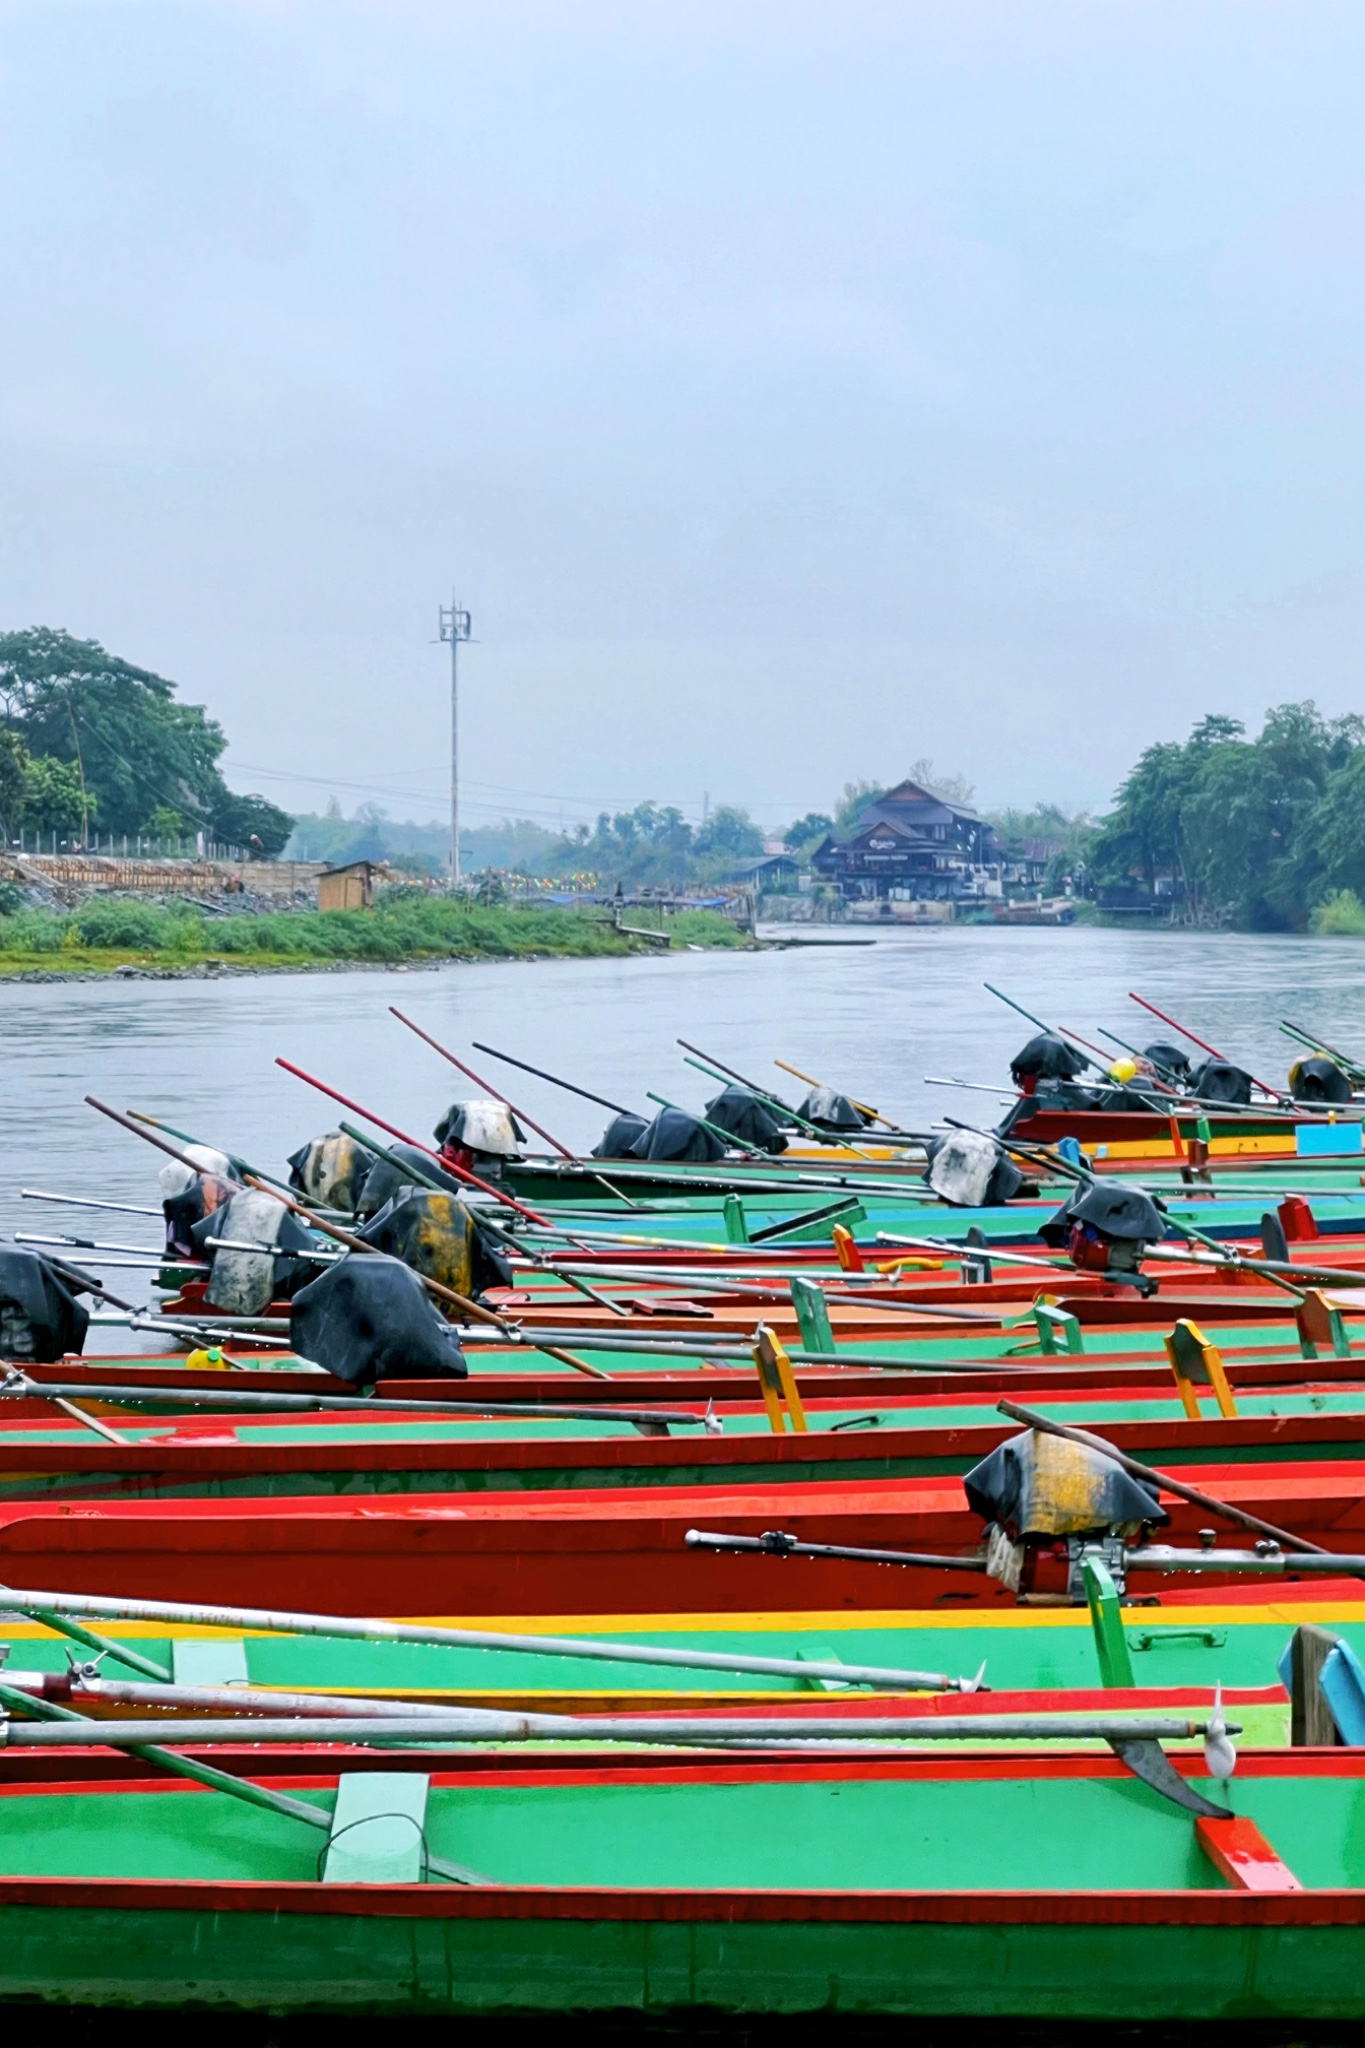
[[[1175,1391],[1093,1393],[1009,1384],[1058,1419],[1097,1427],[1132,1458],[1171,1468],[1353,1460],[1365,1464],[1365,1384],[1314,1384],[1242,1393],[1244,1413],[1191,1421]],[[808,1430],[774,1434],[761,1403],[731,1401],[724,1436],[696,1425],[647,1438],[608,1423],[409,1423],[368,1417],[186,1417],[133,1419],[90,1403],[141,1440],[98,1442],[76,1421],[39,1409],[0,1430],[0,1501],[327,1499],[372,1493],[434,1495],[602,1487],[763,1487],[966,1473],[1017,1425],[997,1411],[999,1393],[886,1395],[849,1403],[829,1393],[806,1401]],[[702,1403],[692,1397],[688,1411]],[[675,1425],[677,1427],[677,1425]],[[174,1440],[168,1440],[174,1438]]]

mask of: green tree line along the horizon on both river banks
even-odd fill
[[[395,825],[375,805],[342,819],[293,819],[260,795],[227,788],[221,725],[176,686],[111,655],[98,641],[53,627],[0,635],[0,834],[55,836],[88,846],[113,834],[207,838],[303,860],[395,858],[440,872],[444,827]],[[958,803],[962,776],[917,760],[911,780]],[[847,782],[829,811],[808,811],[776,838],[806,860],[827,834],[847,831],[884,795]],[[1189,739],[1158,741],[1138,758],[1113,811],[1097,823],[1056,805],[993,813],[1005,840],[1044,840],[1083,893],[1121,903],[1169,899],[1201,924],[1283,932],[1365,930],[1365,719],[1326,719],[1312,700],[1277,705],[1261,731],[1203,717]],[[295,829],[297,825],[297,829]],[[503,819],[463,840],[469,868],[512,868],[544,881],[630,889],[704,887],[765,850],[739,805],[700,825],[677,807],[639,803],[555,834]]]

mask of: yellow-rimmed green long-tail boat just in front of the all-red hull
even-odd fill
[[[884,1593],[894,1595],[890,1575]],[[344,1632],[321,1618],[303,1630],[299,1616],[274,1612],[270,1628],[260,1616],[217,1614],[164,1602],[151,1618],[129,1618],[131,1602],[68,1595],[84,1636],[61,1632],[51,1604],[25,1602],[4,1622],[6,1681],[41,1688],[70,1704],[74,1686],[86,1683],[86,1659],[106,1690],[117,1681],[153,1679],[158,1686],[256,1688],[274,1692],[358,1694],[377,1700],[589,1712],[667,1708],[698,1698],[720,1702],[782,1702],[792,1698],[905,1696],[919,1673],[921,1700],[964,1700],[962,1683],[990,1688],[976,1694],[997,1700],[1003,1692],[1052,1692],[1072,1704],[1097,1683],[1113,1683],[1099,1659],[1095,1612],[1081,1608],[970,1608],[970,1610],[757,1610],[718,1614],[559,1614],[483,1618],[415,1618],[401,1628]],[[16,1597],[12,1593],[12,1597]],[[39,1620],[37,1614],[47,1614]],[[84,1614],[84,1620],[80,1618]],[[70,1626],[70,1622],[68,1622]],[[1164,1589],[1160,1608],[1140,1602],[1117,1608],[1117,1628],[1128,1647],[1134,1698],[1162,1690],[1201,1690],[1222,1683],[1228,1698],[1265,1692],[1295,1628],[1328,1628],[1357,1655],[1365,1651],[1365,1583],[1359,1579],[1275,1581],[1242,1587]],[[88,1630],[98,1630],[90,1640]],[[458,1640],[452,1638],[458,1630]],[[473,1636],[473,1640],[471,1640]],[[587,1645],[591,1655],[577,1655]],[[127,1655],[125,1655],[127,1653]],[[880,1673],[870,1677],[868,1673]],[[937,1690],[923,1690],[937,1673]],[[960,1681],[960,1683],[950,1683]],[[866,1688],[874,1688],[868,1692]],[[864,1690],[860,1690],[864,1688]],[[1054,1702],[1058,1704],[1058,1702]],[[94,1694],[86,1712],[117,1712]],[[1257,1741],[1279,1741],[1283,1731]],[[2,1767],[0,1767],[2,1776]]]

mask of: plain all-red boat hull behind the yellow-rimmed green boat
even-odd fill
[[[1185,1477],[1324,1548],[1365,1552],[1365,1464],[1212,1464]],[[1205,1522],[1207,1511],[1171,1503],[1173,1542],[1195,1546]],[[325,1505],[31,1501],[0,1507],[0,1579],[323,1614],[569,1614],[587,1587],[612,1614],[1013,1604],[984,1573],[708,1552],[688,1546],[690,1528],[743,1536],[780,1528],[804,1542],[960,1556],[980,1544],[956,1477]],[[1142,1593],[1171,1587],[1146,1573],[1130,1583]]]

